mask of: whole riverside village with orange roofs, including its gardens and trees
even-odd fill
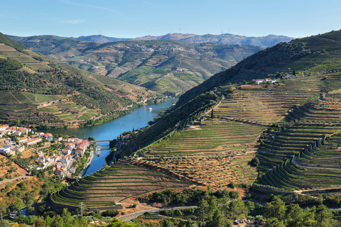
[[[87,159],[88,165],[94,155],[93,147],[85,138],[69,138],[67,135],[54,138],[51,133],[33,132],[31,128],[0,126],[0,154],[6,157],[21,156],[29,150],[31,157],[27,171],[49,167],[58,177],[80,176],[83,168],[77,163]]]

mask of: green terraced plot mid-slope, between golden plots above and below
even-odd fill
[[[151,145],[148,155],[190,155],[197,153],[241,153],[266,128],[234,121],[205,121],[200,130],[185,130]]]

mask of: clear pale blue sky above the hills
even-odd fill
[[[167,33],[286,35],[303,38],[341,28],[341,0],[11,0],[1,1],[7,35]]]

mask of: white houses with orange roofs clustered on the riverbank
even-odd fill
[[[53,140],[51,133],[34,133],[31,131],[31,128],[9,127],[8,125],[0,126],[0,138],[5,134],[16,135],[19,142],[19,144],[16,144],[14,138],[4,138],[4,145],[0,147],[0,153],[5,156],[9,154],[16,155],[16,151],[23,152],[25,146],[35,145],[43,139]],[[36,155],[38,155],[36,160],[40,165],[31,165],[29,168],[36,167],[39,170],[53,165],[55,175],[59,177],[65,177],[69,173],[75,174],[77,166],[72,167],[72,163],[75,159],[83,157],[85,150],[90,146],[90,142],[78,138],[55,138],[55,141],[59,141],[63,145],[63,148],[60,150],[63,155],[53,153],[52,156],[49,156],[40,150],[36,150]]]

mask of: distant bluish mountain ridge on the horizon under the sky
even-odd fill
[[[248,37],[243,35],[195,35],[182,33],[168,33],[167,35],[134,38],[133,40],[180,40],[188,43],[215,43],[229,45],[255,45],[261,48],[269,48],[277,43],[289,42],[294,38],[284,35],[266,35],[261,37]]]

